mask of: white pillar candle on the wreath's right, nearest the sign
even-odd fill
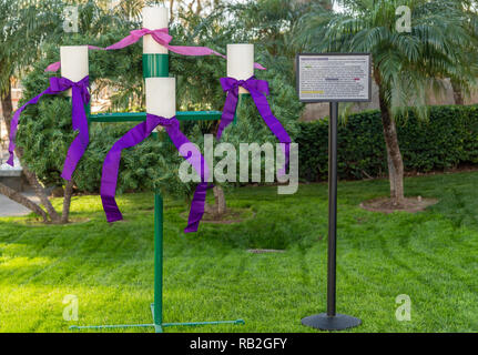
[[[227,44],[227,77],[247,80],[254,75],[254,44]],[[248,92],[240,87],[240,93]]]

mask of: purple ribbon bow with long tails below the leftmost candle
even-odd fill
[[[90,93],[88,92],[89,85],[89,77],[84,77],[82,80],[78,82],[73,82],[67,78],[50,78],[50,87],[44,90],[39,95],[34,97],[26,104],[23,104],[17,112],[13,114],[10,125],[10,144],[8,151],[10,153],[8,164],[13,166],[13,152],[16,148],[16,138],[18,131],[18,122],[20,119],[21,112],[29,105],[35,104],[44,94],[54,95],[60,92],[63,92],[71,88],[72,90],[72,110],[71,110],[71,119],[73,130],[78,130],[79,134],[74,138],[70,148],[68,149],[67,159],[63,164],[63,172],[61,176],[65,180],[71,180],[71,175],[77,169],[78,162],[83,156],[84,151],[87,150],[88,143],[90,142],[89,133],[88,133],[88,119],[87,113],[84,112],[84,105],[90,102]]]

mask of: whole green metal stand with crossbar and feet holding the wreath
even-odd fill
[[[167,77],[169,63],[167,54],[143,54],[143,77]],[[89,108],[88,108],[89,110]],[[90,112],[90,111],[88,111]],[[177,112],[176,119],[180,121],[211,121],[221,120],[221,111],[194,111]],[[135,113],[103,113],[89,114],[91,122],[134,122],[146,120],[145,112]],[[218,324],[245,324],[243,320],[235,321],[212,321],[212,322],[186,322],[186,323],[163,323],[163,197],[156,191],[154,193],[154,303],[150,305],[153,323],[145,324],[114,324],[114,325],[72,325],[70,329],[111,329],[111,328],[138,328],[154,327],[155,333],[163,333],[169,326],[197,326]]]

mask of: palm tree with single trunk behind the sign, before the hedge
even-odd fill
[[[373,75],[379,88],[379,106],[386,142],[390,202],[399,207],[404,196],[404,162],[396,119],[414,110],[426,119],[426,88],[438,90],[440,78],[470,88],[477,65],[466,61],[465,48],[475,39],[467,30],[459,0],[348,0],[344,12],[316,7],[302,19],[297,39],[314,52],[370,52]],[[411,32],[397,32],[396,9],[411,10]]]

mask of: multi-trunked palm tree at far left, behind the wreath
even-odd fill
[[[77,2],[70,2],[70,4],[74,3]],[[43,48],[48,47],[49,43],[68,43],[70,38],[77,36],[63,31],[63,11],[65,4],[68,3],[61,0],[45,0],[41,2],[33,0],[0,0],[0,26],[3,29],[0,33],[0,93],[3,120],[9,131],[13,111],[11,102],[11,82],[24,77],[24,74],[31,70],[32,62],[44,58]],[[80,32],[98,34],[104,31],[109,26],[115,28],[114,18],[108,17],[105,11],[98,7],[94,1],[82,1],[82,3],[79,4],[79,14]],[[37,95],[44,89],[43,82],[39,91],[27,93],[23,98],[27,99]],[[28,97],[28,94],[31,94],[31,97]],[[23,102],[24,101],[26,100],[23,100]],[[22,146],[17,145],[16,155],[22,163],[23,173],[47,211],[3,184],[0,184],[0,193],[32,210],[39,214],[44,222],[49,219],[53,223],[68,222],[73,180],[65,185],[63,213],[60,216],[49,201],[34,169],[32,169],[34,162],[32,163],[32,161],[30,161],[29,163],[23,159],[23,154],[24,150]],[[63,182],[60,181],[58,183],[63,184]]]

